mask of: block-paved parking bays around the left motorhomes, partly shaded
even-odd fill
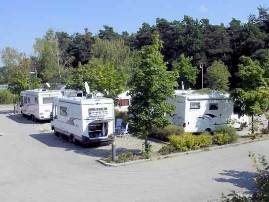
[[[10,112],[9,110],[7,112]],[[22,115],[9,115],[7,113],[7,118],[14,121],[17,124],[24,124],[27,127],[31,127],[40,133],[30,134],[30,136],[37,141],[42,142],[47,146],[60,146],[69,147],[76,151],[78,154],[87,155],[93,159],[107,158],[111,155],[111,145],[99,145],[99,144],[89,144],[89,145],[73,145],[68,141],[66,137],[55,137],[53,131],[50,128],[50,123],[48,121],[34,122],[31,119],[27,119]],[[140,153],[143,149],[144,139],[140,139],[130,136],[116,137],[116,153],[120,155],[127,151],[133,153]],[[162,147],[162,143],[149,141],[152,146],[153,151],[158,151]]]

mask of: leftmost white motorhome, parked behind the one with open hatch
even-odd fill
[[[61,97],[59,90],[34,89],[21,92],[21,113],[29,116],[33,121],[49,120],[52,109],[52,101],[55,97]]]

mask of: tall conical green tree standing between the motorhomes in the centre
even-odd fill
[[[153,44],[144,46],[139,52],[141,63],[131,80],[129,112],[133,114],[131,125],[136,128],[138,136],[147,136],[153,125],[169,125],[171,121],[165,113],[174,112],[174,106],[167,102],[167,97],[174,97],[177,73],[167,71],[167,63],[159,51],[162,43],[155,32]]]

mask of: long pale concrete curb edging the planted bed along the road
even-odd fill
[[[269,137],[263,137],[263,138],[254,139],[254,140],[246,140],[243,142],[225,144],[225,145],[220,145],[220,146],[205,147],[203,149],[190,150],[190,151],[185,151],[185,152],[181,152],[181,153],[174,153],[174,154],[170,154],[170,155],[159,156],[157,158],[141,159],[141,160],[129,161],[129,162],[124,162],[124,163],[119,163],[119,164],[107,163],[103,159],[98,159],[97,162],[101,163],[104,166],[109,166],[109,167],[127,166],[127,165],[131,165],[131,164],[138,164],[138,163],[154,161],[154,160],[159,160],[159,159],[167,159],[167,158],[178,157],[178,156],[183,156],[183,155],[196,154],[196,153],[201,153],[203,151],[226,148],[226,147],[230,147],[230,146],[237,146],[237,145],[242,145],[242,144],[247,144],[247,143],[252,143],[252,142],[257,142],[257,141],[263,141],[263,140],[267,140],[267,139],[269,139]]]

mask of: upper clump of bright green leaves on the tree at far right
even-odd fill
[[[259,61],[252,61],[249,57],[242,57],[238,76],[242,79],[244,89],[257,89],[264,85],[263,75],[264,70],[260,67]]]

